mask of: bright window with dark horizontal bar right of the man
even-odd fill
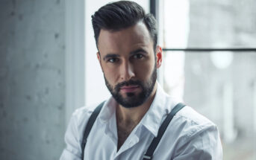
[[[224,159],[256,158],[256,1],[159,0],[166,92],[219,127]]]

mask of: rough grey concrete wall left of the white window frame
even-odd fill
[[[0,159],[59,159],[64,19],[62,0],[0,1]]]

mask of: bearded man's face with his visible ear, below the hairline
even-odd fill
[[[158,46],[155,54],[146,25],[101,30],[98,48],[104,80],[116,102],[127,108],[143,104],[152,94],[162,57]]]

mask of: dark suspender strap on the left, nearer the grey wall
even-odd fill
[[[82,153],[81,153],[81,159],[84,159],[84,147],[87,144],[87,137],[90,133],[90,129],[92,129],[94,122],[96,121],[97,116],[99,115],[99,112],[101,112],[102,110],[102,106],[103,106],[104,102],[100,103],[99,106],[96,107],[96,109],[94,109],[92,115],[90,116],[87,126],[84,129],[84,137],[83,137],[83,141],[81,143],[81,149],[82,149]]]

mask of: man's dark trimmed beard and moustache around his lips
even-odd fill
[[[154,71],[152,72],[151,77],[146,82],[142,82],[140,80],[128,80],[122,83],[118,83],[115,87],[111,86],[110,83],[107,81],[106,77],[104,76],[105,84],[107,89],[110,91],[113,98],[116,100],[117,103],[124,106],[125,108],[132,108],[142,105],[149,96],[152,94],[154,89],[154,84],[157,80],[157,65],[154,65]],[[129,86],[129,85],[136,85],[140,86],[142,91],[136,95],[133,92],[127,92],[126,97],[123,97],[120,93],[122,86]]]

